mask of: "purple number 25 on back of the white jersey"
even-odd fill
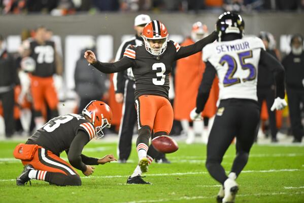
[[[242,79],[243,82],[254,80],[256,78],[256,68],[252,64],[245,63],[245,59],[252,58],[252,51],[250,50],[250,51],[244,51],[244,52],[238,53],[238,56],[239,56],[239,60],[240,60],[242,69],[249,70],[249,75],[248,75],[248,77]],[[234,73],[237,71],[237,68],[238,68],[238,65],[237,65],[237,62],[235,61],[235,59],[231,55],[225,54],[221,57],[219,64],[221,64],[223,66],[225,63],[228,64],[228,70],[227,70],[224,80],[223,80],[224,86],[230,86],[233,84],[240,83],[241,82],[240,78],[233,77]]]

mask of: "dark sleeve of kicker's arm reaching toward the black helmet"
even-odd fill
[[[217,32],[213,32],[204,39],[201,39],[189,46],[182,46],[176,54],[176,60],[182,59],[194,53],[197,53],[204,48],[207,44],[214,42],[218,38]]]

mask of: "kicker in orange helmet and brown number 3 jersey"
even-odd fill
[[[151,131],[155,137],[168,135],[173,124],[173,109],[168,98],[169,74],[172,64],[183,57],[201,51],[217,39],[217,32],[196,43],[181,47],[178,43],[168,41],[168,32],[163,23],[150,21],[143,30],[144,45],[131,46],[124,52],[124,57],[114,63],[102,63],[96,60],[92,51],[85,52],[85,59],[99,71],[114,73],[132,67],[135,77],[135,104],[138,115],[139,136],[137,152],[139,164],[127,183],[149,184],[141,178],[147,172],[148,165],[158,152],[149,146]]]

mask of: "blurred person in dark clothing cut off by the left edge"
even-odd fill
[[[4,46],[0,35],[0,101],[4,111],[5,134],[11,137],[15,131],[14,121],[14,87],[17,80],[15,60]]]

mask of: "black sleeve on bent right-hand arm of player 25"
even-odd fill
[[[284,67],[282,64],[271,54],[267,53],[265,50],[261,49],[260,61],[268,70],[274,73],[275,82],[277,86],[276,97],[284,99],[285,97],[285,83],[284,83]]]

